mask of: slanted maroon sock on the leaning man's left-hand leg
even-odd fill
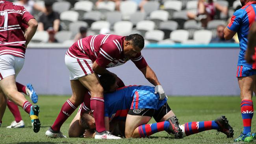
[[[69,118],[69,116],[76,110],[77,106],[71,103],[69,100],[63,104],[58,117],[52,125],[52,130],[59,131],[62,124]]]

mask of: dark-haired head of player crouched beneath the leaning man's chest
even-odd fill
[[[100,76],[100,84],[104,92],[114,92],[117,88],[117,78],[112,74],[104,74]]]

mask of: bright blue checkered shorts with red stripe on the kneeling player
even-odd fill
[[[140,86],[135,91],[130,109],[160,109],[167,102],[167,98],[159,100],[159,94],[154,94],[154,87]]]

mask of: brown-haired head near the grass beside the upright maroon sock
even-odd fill
[[[96,125],[95,125],[95,119],[93,116],[93,112],[91,110],[84,111],[83,114],[80,116],[79,124],[84,129],[94,130],[96,128]]]

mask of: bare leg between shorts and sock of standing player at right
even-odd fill
[[[251,99],[256,82],[256,75],[238,77],[237,79],[241,90],[241,99]]]

